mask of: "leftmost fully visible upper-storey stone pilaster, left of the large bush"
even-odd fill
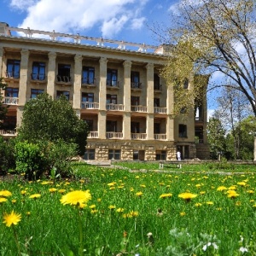
[[[27,83],[27,66],[29,50],[21,49],[21,61],[20,61],[20,89],[19,89],[19,105],[24,106],[26,103],[26,83]]]

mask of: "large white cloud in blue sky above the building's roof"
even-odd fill
[[[148,0],[12,0],[16,9],[26,10],[20,27],[55,32],[81,32],[94,26],[103,38],[114,37],[122,29],[139,29],[141,10]]]

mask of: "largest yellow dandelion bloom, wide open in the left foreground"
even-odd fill
[[[75,190],[62,195],[61,204],[63,205],[78,205],[91,200],[90,190],[82,191]]]

